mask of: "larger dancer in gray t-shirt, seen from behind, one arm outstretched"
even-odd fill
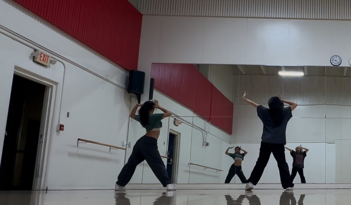
[[[263,133],[259,156],[255,167],[247,180],[246,190],[252,190],[260,180],[264,168],[266,167],[271,153],[277,161],[280,182],[286,190],[293,190],[294,184],[290,180],[289,166],[285,160],[284,145],[286,144],[286,125],[292,117],[293,111],[297,104],[291,101],[283,100],[282,97],[271,97],[268,101],[268,108],[258,105],[257,103],[246,98],[246,91],[243,99],[257,109],[257,115],[263,123]],[[290,106],[284,108],[284,103]]]

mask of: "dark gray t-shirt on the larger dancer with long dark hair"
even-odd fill
[[[286,125],[292,117],[291,107],[289,106],[283,109],[283,122],[279,126],[274,125],[273,118],[268,108],[258,105],[257,115],[263,122],[262,142],[285,145]]]

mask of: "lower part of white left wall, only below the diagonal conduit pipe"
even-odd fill
[[[5,132],[7,108],[15,66],[24,72],[35,73],[57,84],[53,96],[54,110],[52,132],[47,136],[47,175],[43,187],[61,188],[106,188],[113,185],[117,173],[124,164],[124,151],[108,152],[107,147],[90,144],[76,146],[77,138],[121,146],[126,139],[130,97],[125,90],[88,73],[68,62],[43,68],[29,58],[33,49],[0,35],[1,45],[1,133]],[[9,52],[9,49],[11,51]],[[6,60],[5,60],[6,59]],[[97,62],[98,63],[98,62]],[[104,63],[104,60],[100,60]],[[106,62],[107,63],[107,62]],[[101,65],[100,64],[100,65]],[[66,68],[62,92],[62,81]],[[119,68],[114,68],[118,70]],[[65,131],[55,130],[58,124],[62,92],[61,121]],[[70,112],[69,118],[66,112]],[[119,116],[119,117],[116,117]],[[1,149],[4,141],[1,135]],[[111,182],[112,181],[112,182]]]

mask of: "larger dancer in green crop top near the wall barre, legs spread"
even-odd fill
[[[138,107],[139,115],[135,115]],[[153,114],[155,108],[160,109],[164,113]],[[125,186],[131,180],[135,168],[142,161],[146,160],[152,172],[157,179],[162,183],[167,190],[176,190],[176,187],[171,183],[168,177],[165,164],[163,163],[160,153],[158,152],[157,139],[160,136],[160,129],[162,127],[161,120],[165,117],[170,117],[172,113],[165,108],[160,107],[157,100],[146,101],[144,104],[137,104],[131,111],[130,117],[140,122],[146,129],[146,134],[135,142],[131,156],[128,162],[124,165],[118,175],[118,181],[115,185],[116,191],[125,190]]]

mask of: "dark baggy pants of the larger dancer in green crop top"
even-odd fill
[[[116,184],[126,186],[131,180],[135,172],[135,168],[137,168],[138,164],[144,160],[146,160],[152,172],[161,182],[163,187],[166,187],[167,184],[171,184],[171,180],[166,171],[166,166],[161,159],[160,153],[158,152],[157,140],[146,135],[140,137],[140,139],[135,143],[128,162],[124,165],[118,175]]]

